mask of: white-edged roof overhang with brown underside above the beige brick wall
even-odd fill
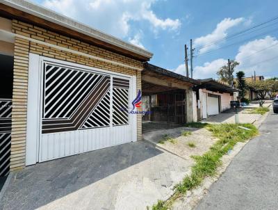
[[[35,24],[137,60],[148,61],[153,56],[151,52],[145,49],[92,29],[90,26],[76,22],[74,19],[60,15],[30,1],[1,0],[0,15]]]

